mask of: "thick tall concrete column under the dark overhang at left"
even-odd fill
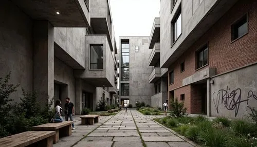
[[[53,26],[48,21],[33,22],[33,89],[38,100],[53,98]]]

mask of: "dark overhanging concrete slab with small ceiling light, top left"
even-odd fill
[[[31,19],[48,20],[54,27],[90,27],[89,5],[84,0],[13,0],[12,2]]]

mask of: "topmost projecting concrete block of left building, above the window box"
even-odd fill
[[[107,35],[110,49],[114,51],[115,41],[113,41],[114,43],[112,44],[112,15],[107,0],[90,1],[90,21],[91,27],[94,28],[95,34]],[[117,53],[117,50],[115,53]]]

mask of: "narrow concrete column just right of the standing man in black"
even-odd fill
[[[75,83],[75,114],[80,115],[82,110],[82,80],[76,78]]]

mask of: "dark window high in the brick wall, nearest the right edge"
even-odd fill
[[[243,23],[246,21],[245,23]],[[246,32],[241,36],[238,36],[238,28],[246,24]],[[241,39],[244,35],[248,34],[248,13],[245,13],[239,19],[231,24],[231,43],[235,42],[238,39]],[[237,36],[236,36],[237,35]]]

